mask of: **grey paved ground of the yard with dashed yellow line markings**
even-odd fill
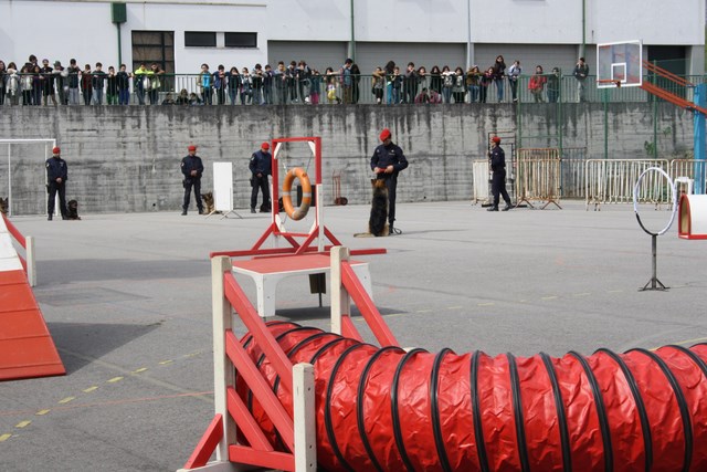
[[[658,277],[671,290],[639,292],[651,277],[651,238],[632,208],[563,207],[400,204],[403,234],[384,239],[352,238],[367,207],[327,208],[326,218],[345,244],[388,249],[365,259],[404,346],[559,356],[707,340],[706,241],[679,240],[675,228],[658,238]],[[36,239],[35,294],[67,375],[0,382],[3,471],[183,464],[213,416],[208,253],[250,248],[268,222],[243,216],[14,219]],[[645,213],[655,228],[667,217]],[[326,326],[326,306],[306,277],[281,284],[278,317]]]

